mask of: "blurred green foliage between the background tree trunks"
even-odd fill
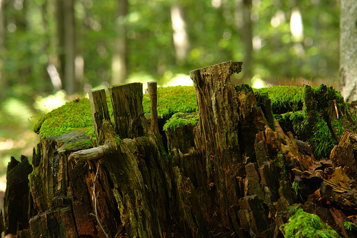
[[[183,62],[177,62],[173,44],[171,8],[183,10],[191,47]],[[76,1],[76,53],[84,60],[84,84],[111,80],[117,26],[128,30],[130,74],[153,75],[161,81],[165,72],[187,73],[227,60],[243,60],[244,28],[235,1],[128,0],[128,15],[117,17],[117,1]],[[290,32],[292,9],[303,16],[303,38]],[[56,64],[55,1],[4,1],[5,51],[0,52],[0,70],[5,84],[29,84],[34,91],[50,93],[46,71]],[[253,1],[252,75],[275,78],[334,78],[338,73],[338,1]],[[318,17],[317,17],[318,16]],[[258,21],[259,19],[259,21]],[[145,60],[143,60],[145,59]],[[243,70],[245,70],[243,68]],[[238,75],[238,78],[242,74]],[[3,95],[12,95],[3,90]]]

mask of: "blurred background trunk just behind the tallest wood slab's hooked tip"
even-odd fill
[[[251,0],[236,0],[235,25],[244,43],[243,78],[251,78],[253,76],[251,67],[253,58],[253,22],[251,19],[251,7]]]

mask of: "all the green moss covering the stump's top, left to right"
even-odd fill
[[[251,87],[248,85],[235,87],[237,91],[244,88]],[[291,131],[297,139],[312,144],[316,158],[323,158],[330,154],[332,147],[338,142],[337,137],[343,132],[343,128],[355,129],[347,127],[348,125],[346,126],[346,122],[343,121],[345,102],[343,102],[341,93],[323,84],[316,87],[272,86],[270,88],[253,88],[253,91],[257,99],[270,99],[271,110],[281,128],[285,132]],[[158,115],[166,123],[164,129],[187,124],[195,125],[198,121],[198,115],[182,115],[182,113],[197,112],[198,110],[193,86],[159,87],[157,97]],[[327,114],[331,115],[332,113],[332,108],[329,108],[331,102],[334,102],[336,113],[339,113],[335,120],[327,120]],[[109,97],[107,97],[107,103],[109,113],[113,115]],[[143,95],[143,110],[146,115],[150,114],[148,94]],[[336,129],[331,131],[330,128]],[[89,138],[90,136],[95,137],[95,135],[93,134],[89,99],[76,99],[49,112],[39,121],[34,131],[44,138],[51,136],[53,139],[64,139],[66,136],[62,135],[72,132],[72,134],[67,134],[68,138],[66,137],[66,140],[69,141],[65,145],[67,150],[71,149],[71,146],[90,147],[91,140]],[[73,133],[77,134],[78,141],[81,141],[76,145],[71,142],[73,138],[76,138]]]

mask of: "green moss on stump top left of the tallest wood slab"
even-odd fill
[[[157,112],[160,117],[168,120],[176,112],[196,112],[196,98],[193,86],[172,86],[159,87],[157,89]],[[113,115],[111,99],[107,95],[107,104],[110,115]],[[143,95],[143,110],[146,114],[150,113],[150,99],[148,94]],[[63,134],[71,132],[73,134],[87,133],[87,139],[83,143],[90,144],[89,135],[93,134],[93,121],[91,117],[91,104],[89,99],[81,98],[67,102],[67,104],[56,108],[41,118],[34,127],[34,132],[43,138],[61,139]],[[62,137],[58,137],[62,136]],[[82,139],[81,139],[82,140]],[[80,140],[80,141],[81,141]]]

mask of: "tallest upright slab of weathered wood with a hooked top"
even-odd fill
[[[214,197],[203,194],[206,217],[218,213],[224,226],[233,229],[229,206],[238,205],[240,191],[232,178],[239,176],[243,162],[239,143],[238,93],[231,84],[231,75],[242,70],[242,62],[224,62],[190,71],[196,89],[200,114],[196,126],[195,147],[203,152],[207,184],[213,183]],[[202,188],[202,189],[207,189]],[[207,192],[207,191],[206,191]],[[207,218],[206,218],[207,219]]]

